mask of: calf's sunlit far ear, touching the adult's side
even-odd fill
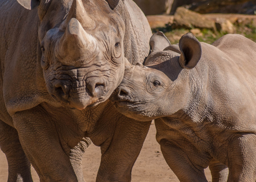
[[[166,38],[163,32],[157,32],[151,36],[149,40],[151,52],[163,51],[166,47],[170,46],[170,41]]]

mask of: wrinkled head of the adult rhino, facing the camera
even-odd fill
[[[106,101],[122,81],[126,59],[125,24],[112,10],[119,0],[18,1],[27,9],[38,6],[41,66],[53,99],[79,110]],[[64,17],[55,25],[44,23],[56,19],[58,12]]]

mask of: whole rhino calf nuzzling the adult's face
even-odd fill
[[[118,111],[155,119],[156,139],[181,182],[255,182],[256,43],[224,35],[212,45],[192,34],[170,45],[159,32],[145,65],[127,63],[111,97]]]

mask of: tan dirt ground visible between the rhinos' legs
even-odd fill
[[[155,140],[155,125],[152,124],[144,146],[133,167],[132,182],[179,182],[165,162],[160,146]],[[95,182],[97,170],[101,161],[100,147],[93,144],[87,149],[83,157],[83,171],[86,182]],[[208,182],[211,182],[210,171],[205,170]],[[5,154],[0,151],[0,182],[7,182],[8,167]],[[32,168],[34,182],[39,178]]]

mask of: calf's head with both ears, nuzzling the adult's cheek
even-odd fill
[[[122,114],[139,121],[171,116],[185,108],[191,94],[189,70],[201,59],[202,47],[191,33],[171,45],[162,32],[150,39],[145,65],[126,62],[123,81],[110,100]]]

